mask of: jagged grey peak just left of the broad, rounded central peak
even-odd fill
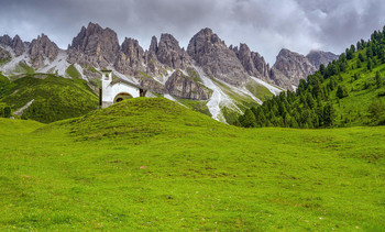
[[[190,63],[186,52],[180,48],[179,42],[173,35],[162,34],[157,47],[154,46],[153,42],[150,49],[156,49],[157,60],[165,66],[174,69],[184,69]]]

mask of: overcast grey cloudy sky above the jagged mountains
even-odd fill
[[[342,53],[385,24],[384,0],[0,0],[0,35],[44,33],[67,48],[81,26],[99,23],[148,48],[170,33],[180,46],[210,27],[227,45],[246,43],[274,64],[280,48]]]

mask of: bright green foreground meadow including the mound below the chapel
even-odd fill
[[[162,98],[0,119],[0,229],[383,231],[384,133],[248,130]]]

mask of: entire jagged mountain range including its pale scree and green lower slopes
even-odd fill
[[[44,34],[32,42],[18,35],[0,36],[0,70],[8,76],[44,73],[79,77],[96,89],[100,70],[108,68],[116,78],[147,88],[152,95],[205,101],[209,114],[219,121],[229,121],[229,110],[242,113],[270,95],[295,89],[300,79],[337,58],[321,51],[304,56],[284,48],[270,67],[246,44],[228,46],[210,29],[195,34],[187,49],[172,34],[162,34],[160,40],[153,36],[147,49],[134,38],[125,37],[119,44],[113,30],[91,22],[67,49]]]

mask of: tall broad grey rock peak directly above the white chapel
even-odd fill
[[[89,23],[87,29],[81,27],[68,47],[68,62],[107,67],[114,64],[119,41],[117,33],[111,29],[102,29],[99,24]]]

